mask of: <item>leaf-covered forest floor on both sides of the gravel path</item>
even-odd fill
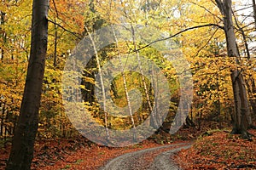
[[[125,153],[184,142],[194,142],[190,149],[182,150],[175,156],[177,163],[184,169],[256,169],[253,167],[256,165],[255,137],[252,138],[253,141],[248,141],[241,139],[239,135],[230,135],[226,130],[204,132],[207,133],[195,128],[185,128],[175,135],[155,134],[140,144],[122,148],[93,144],[83,137],[44,139],[35,144],[32,169],[96,170]],[[249,132],[256,136],[256,130]],[[9,150],[10,144],[0,148],[0,169],[6,166]]]

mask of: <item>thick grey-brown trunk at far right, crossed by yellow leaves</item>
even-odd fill
[[[236,35],[232,20],[231,0],[215,0],[218,8],[223,14],[224,31],[229,57],[235,57],[239,64],[239,51],[236,45]],[[248,138],[247,124],[250,114],[247,100],[247,91],[243,80],[242,71],[234,70],[231,72],[233,94],[235,99],[234,122],[231,133],[240,133],[244,138]]]

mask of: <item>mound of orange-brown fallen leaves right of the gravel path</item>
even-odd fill
[[[228,132],[210,133],[181,150],[176,161],[184,169],[256,169],[256,131],[253,141]]]

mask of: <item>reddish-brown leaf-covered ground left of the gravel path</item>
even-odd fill
[[[92,144],[87,139],[50,139],[35,144],[32,169],[93,170],[103,166],[108,160],[125,153],[160,146],[145,140],[140,144],[122,148],[109,148]],[[0,169],[4,169],[9,156],[10,145],[0,150]]]

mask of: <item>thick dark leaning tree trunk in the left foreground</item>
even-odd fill
[[[47,51],[48,9],[48,0],[33,0],[30,58],[20,107],[20,118],[15,129],[12,149],[6,167],[8,170],[31,168],[33,145],[38,132],[38,111]]]

